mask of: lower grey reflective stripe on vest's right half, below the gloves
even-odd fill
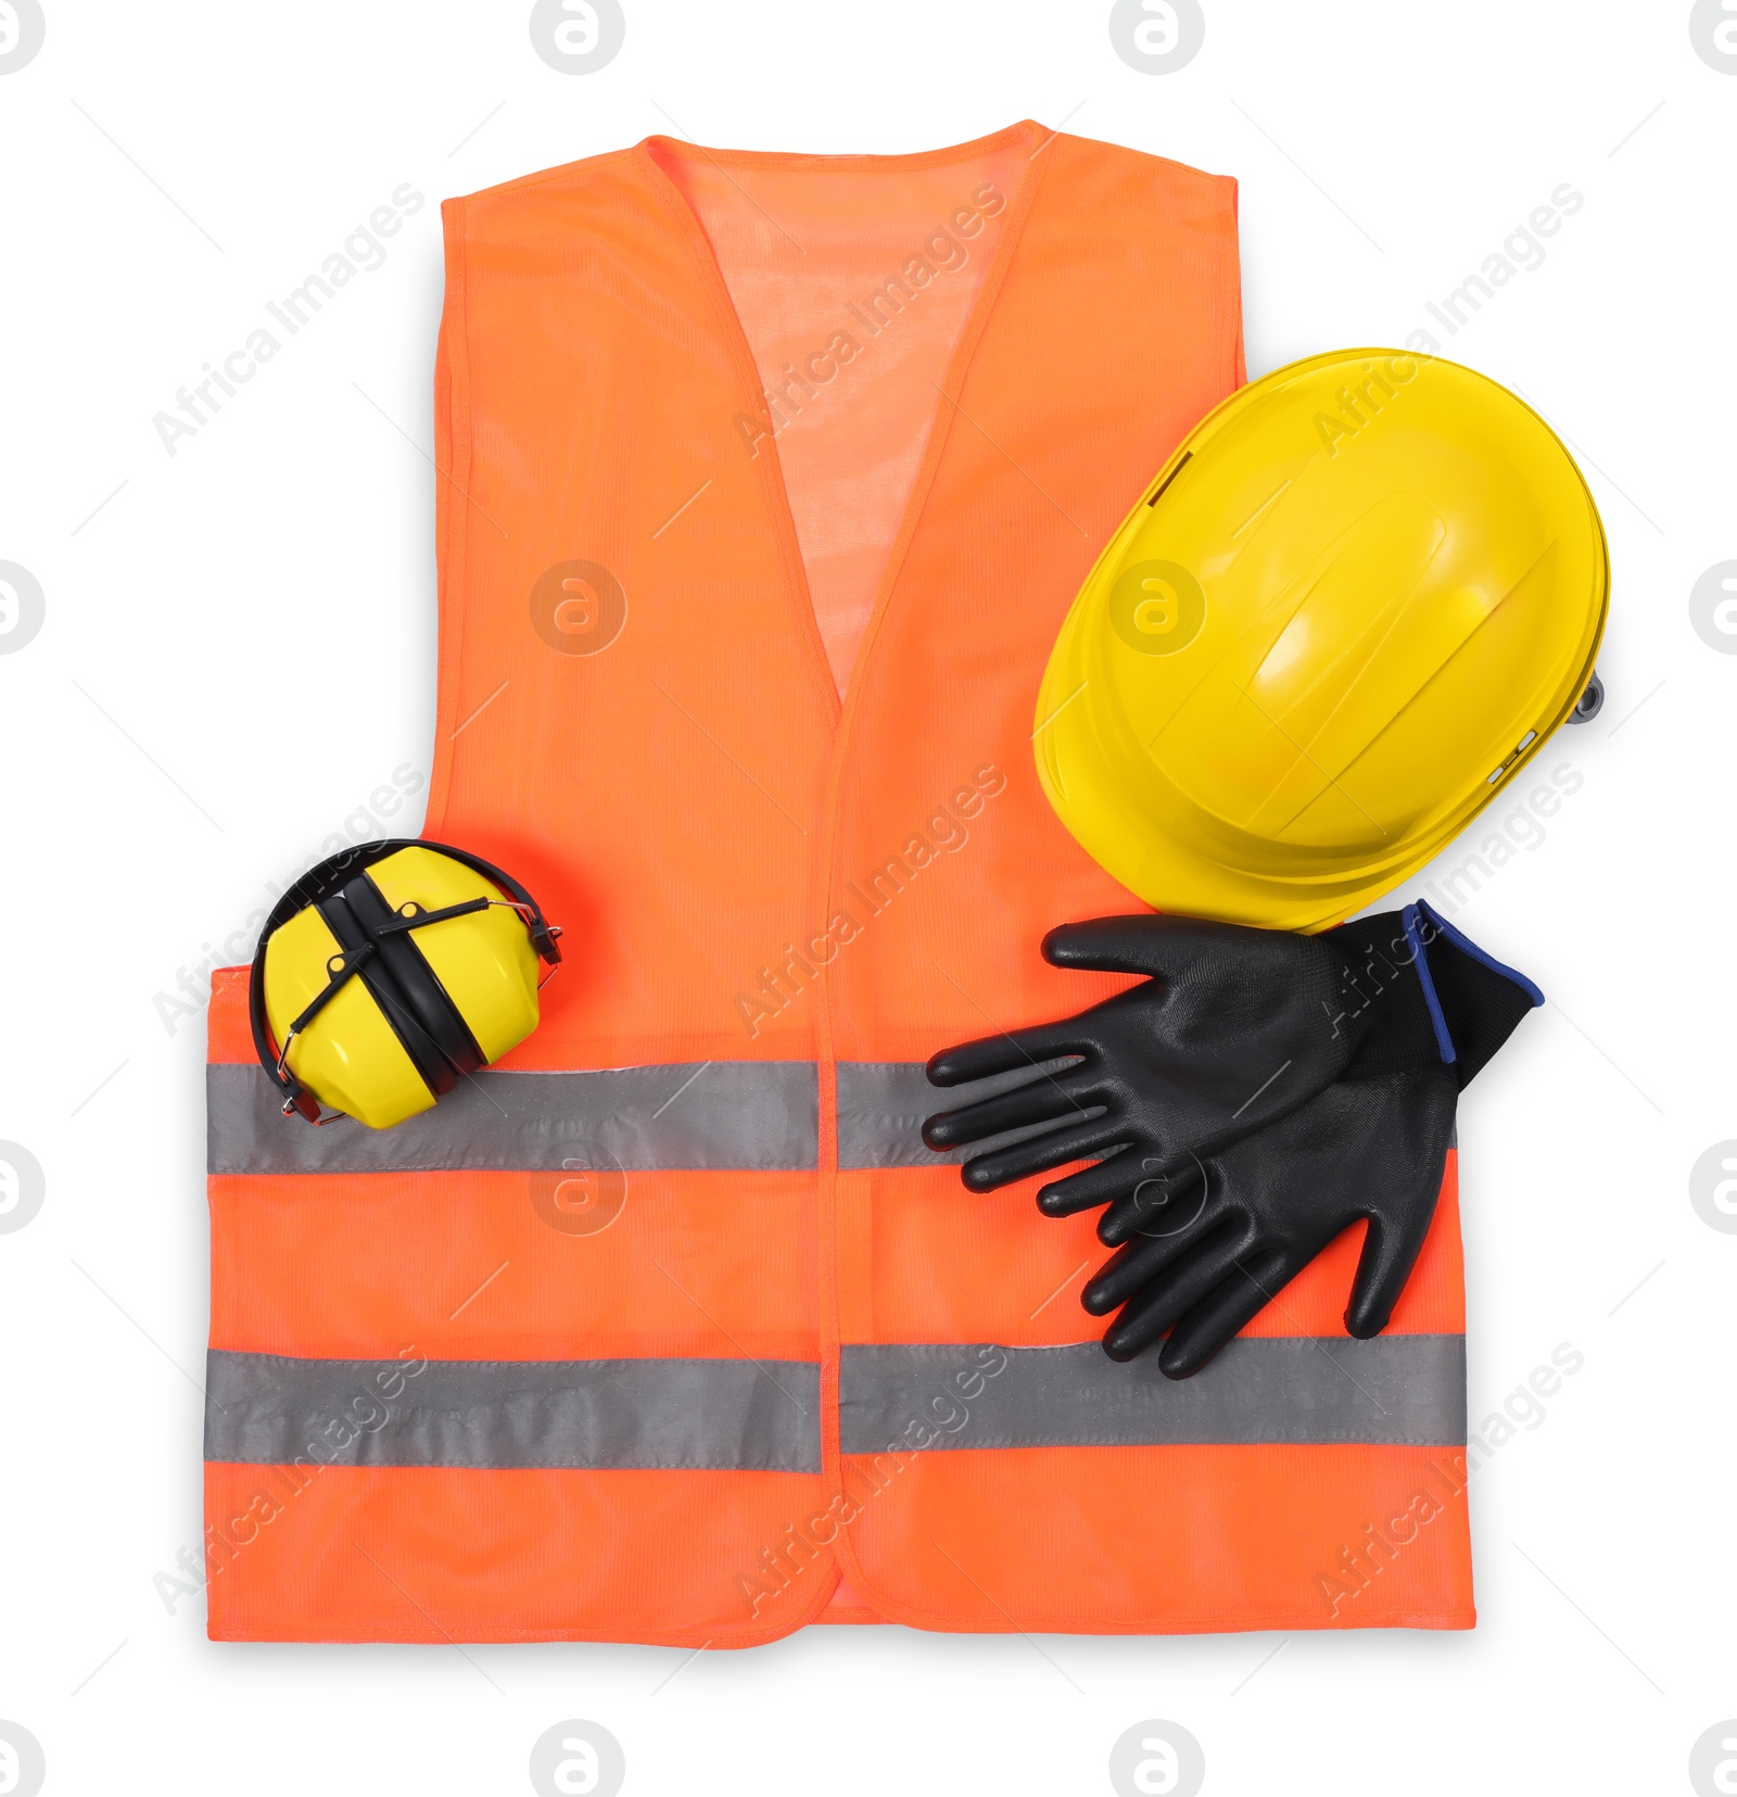
[[[934,1439],[929,1439],[934,1436]],[[846,1346],[846,1454],[1466,1439],[1466,1337],[1238,1337],[1193,1378],[1069,1348]]]

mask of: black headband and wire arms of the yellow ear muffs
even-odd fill
[[[550,967],[560,961],[557,936],[535,898],[507,872],[481,855],[453,848],[447,843],[429,843],[420,837],[386,837],[347,848],[318,866],[309,868],[271,907],[253,951],[253,969],[248,978],[248,1021],[253,1028],[253,1053],[268,1078],[284,1098],[284,1116],[298,1111],[311,1123],[327,1121],[320,1116],[320,1102],[289,1071],[287,1040],[280,1049],[271,1037],[266,1017],[266,945],[271,936],[309,906],[318,906],[327,927],[343,949],[343,967],[327,981],[318,997],[296,1017],[289,1035],[295,1037],[320,1014],[343,985],[354,976],[363,981],[379,1005],[393,1033],[410,1055],[417,1073],[438,1098],[458,1084],[460,1073],[472,1073],[483,1064],[483,1053],[471,1035],[469,1024],[458,1014],[445,988],[415,945],[413,931],[447,916],[462,916],[490,904],[487,898],[467,900],[442,911],[422,911],[399,916],[372,881],[363,879],[375,861],[384,861],[401,848],[429,848],[480,873],[503,893],[530,931],[532,947]]]

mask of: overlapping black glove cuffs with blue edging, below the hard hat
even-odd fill
[[[1347,1078],[1448,1066],[1464,1091],[1545,996],[1421,900],[1329,931],[1358,996]],[[1415,979],[1405,976],[1405,969]]]

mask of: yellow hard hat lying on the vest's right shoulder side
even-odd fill
[[[1430,861],[1574,710],[1609,561],[1507,388],[1311,356],[1195,426],[1110,539],[1038,692],[1038,778],[1162,911],[1324,929]]]

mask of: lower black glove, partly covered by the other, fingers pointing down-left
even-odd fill
[[[1126,1163],[1101,1181],[1117,1202],[1098,1226],[1121,1251],[1081,1296],[1094,1315],[1121,1306],[1105,1332],[1112,1359],[1133,1359],[1168,1330],[1159,1369],[1200,1371],[1360,1217],[1369,1233],[1345,1328],[1367,1337],[1387,1326],[1435,1215],[1459,1094],[1543,994],[1423,904],[1327,938],[1363,996],[1354,1019],[1335,1019],[1358,1044],[1336,1082],[1180,1168],[1126,1148],[1089,1170]],[[1040,1204],[1047,1195],[1060,1211],[1056,1197],[1080,1179],[1045,1186]],[[1103,1199],[1065,1209],[1085,1202]]]

